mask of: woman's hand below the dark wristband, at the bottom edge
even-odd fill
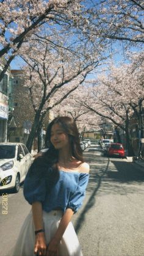
[[[46,256],[46,240],[43,232],[37,233],[35,236],[34,253],[38,254],[38,256]]]

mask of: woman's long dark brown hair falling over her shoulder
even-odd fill
[[[71,144],[72,156],[77,160],[81,161],[82,163],[84,162],[76,122],[71,117],[56,117],[52,120],[51,123],[49,123],[46,131],[45,148],[48,148],[48,151],[43,153],[42,156],[39,156],[37,159],[35,159],[35,161],[41,164],[41,167],[47,166],[47,169],[51,170],[52,183],[56,183],[56,181],[59,179],[59,169],[57,166],[59,162],[59,150],[56,150],[56,148],[54,148],[51,143],[51,128],[52,125],[56,123],[59,124],[63,128],[63,131],[68,134]],[[43,172],[45,172],[45,168],[41,169],[43,169],[43,171],[41,171],[41,175],[46,175],[46,173],[43,174]]]

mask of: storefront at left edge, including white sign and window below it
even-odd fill
[[[0,92],[0,142],[7,142],[8,97]]]

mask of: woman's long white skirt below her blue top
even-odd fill
[[[56,233],[59,227],[60,219],[63,212],[60,210],[52,210],[49,213],[43,211],[43,224],[45,228],[46,244],[49,244],[52,237]],[[11,250],[12,256],[35,256],[35,227],[32,217],[32,210],[27,215],[23,226],[21,227],[20,234],[16,244]],[[73,224],[68,224],[65,233],[62,236],[62,240],[59,245],[59,256],[82,256],[81,247],[74,230]]]

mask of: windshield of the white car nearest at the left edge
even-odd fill
[[[0,159],[15,158],[15,145],[0,145]]]

